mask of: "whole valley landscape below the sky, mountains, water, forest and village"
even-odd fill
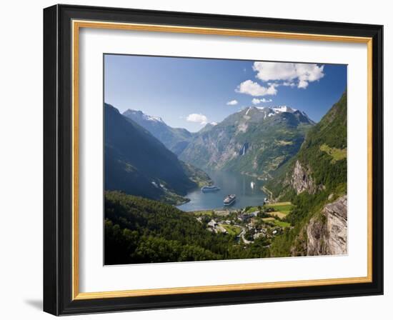
[[[196,133],[105,108],[107,264],[346,254],[346,92],[317,124],[248,107]]]

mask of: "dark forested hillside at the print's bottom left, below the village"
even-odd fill
[[[208,231],[174,206],[105,192],[105,264],[260,258],[263,241],[244,248],[236,237]]]

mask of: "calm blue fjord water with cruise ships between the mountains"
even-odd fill
[[[261,189],[264,181],[259,181],[257,178],[226,171],[209,171],[207,173],[214,181],[214,185],[218,186],[220,190],[204,193],[200,189],[194,189],[186,195],[190,201],[177,206],[177,208],[183,211],[222,209],[224,208],[224,197],[228,194],[236,194],[236,201],[229,208],[239,209],[245,206],[262,206],[264,198],[267,197]],[[254,188],[251,186],[252,182],[254,182]]]

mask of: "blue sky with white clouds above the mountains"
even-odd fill
[[[189,131],[247,106],[287,105],[319,121],[346,87],[346,65],[104,55],[106,103]]]

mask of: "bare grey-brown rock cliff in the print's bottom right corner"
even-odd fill
[[[307,256],[347,254],[347,196],[327,204],[307,226]]]

